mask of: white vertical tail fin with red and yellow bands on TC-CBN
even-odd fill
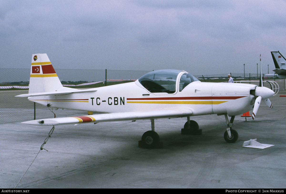
[[[53,92],[62,87],[47,54],[33,54],[29,94]]]

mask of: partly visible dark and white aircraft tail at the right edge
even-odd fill
[[[279,51],[273,51],[271,52],[273,62],[275,65],[275,70],[273,70],[275,73],[279,75],[279,78],[286,78],[286,59],[281,55]]]

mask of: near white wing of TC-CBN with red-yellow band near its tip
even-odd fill
[[[97,123],[123,120],[144,120],[151,118],[178,118],[190,116],[191,114],[192,110],[188,108],[176,108],[143,112],[104,113],[86,116],[47,118],[41,120],[31,120],[22,123],[31,125],[54,126],[64,124]]]

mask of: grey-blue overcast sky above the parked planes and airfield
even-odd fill
[[[283,0],[0,1],[0,68],[263,73],[286,56]]]

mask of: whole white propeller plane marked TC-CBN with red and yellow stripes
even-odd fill
[[[262,80],[262,78],[261,78]],[[224,138],[235,142],[238,133],[232,129],[236,115],[253,109],[253,119],[261,100],[269,107],[274,92],[253,84],[200,82],[185,71],[157,70],[135,82],[92,89],[62,86],[47,54],[33,54],[28,97],[53,108],[67,108],[103,114],[31,120],[24,124],[55,126],[61,124],[98,123],[123,120],[151,120],[151,130],[142,135],[142,146],[154,148],[160,141],[154,130],[154,119],[186,117],[182,133],[197,132],[198,124],[190,116],[224,115],[227,130]],[[229,121],[228,116],[231,116]]]

